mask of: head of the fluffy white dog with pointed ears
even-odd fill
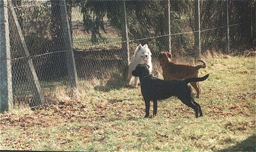
[[[139,44],[135,50],[135,57],[138,60],[142,59],[144,61],[144,63],[151,62],[151,55],[152,55],[152,53],[150,52],[148,44],[145,44],[143,46],[141,44]]]

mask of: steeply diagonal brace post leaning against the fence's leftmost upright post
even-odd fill
[[[18,22],[18,18],[16,16],[16,14],[15,14],[15,10],[13,8],[13,5],[12,5],[11,1],[8,1],[8,2],[9,2],[10,9],[11,9],[11,17],[13,17],[14,24],[17,28],[18,36],[21,40],[21,44],[22,44],[22,47],[23,47],[23,49],[21,49],[22,50],[21,53],[22,53],[22,56],[26,57],[26,59],[24,60],[24,63],[25,63],[25,66],[26,66],[25,68],[28,70],[28,72],[26,72],[26,74],[27,74],[28,79],[31,80],[33,88],[36,90],[35,93],[36,93],[37,97],[35,97],[35,99],[39,102],[38,105],[40,105],[40,104],[43,104],[45,102],[44,95],[42,94],[41,86],[40,86],[36,71],[34,69],[33,61],[30,58],[28,46],[26,45],[26,41],[25,41],[25,38],[23,36],[21,26]]]

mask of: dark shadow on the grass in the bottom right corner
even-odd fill
[[[245,141],[239,142],[235,146],[230,146],[219,151],[256,151],[256,134],[251,135]]]

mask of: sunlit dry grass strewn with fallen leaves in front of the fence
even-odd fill
[[[206,60],[206,59],[205,59]],[[255,57],[208,59],[196,99],[204,116],[176,98],[144,119],[140,88],[121,74],[110,82],[80,81],[79,93],[52,91],[55,104],[0,114],[1,150],[255,151]],[[114,85],[113,85],[114,84]],[[150,108],[152,114],[152,106]]]

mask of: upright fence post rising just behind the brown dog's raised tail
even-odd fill
[[[201,57],[201,26],[200,26],[200,0],[195,1],[195,50],[196,59]]]

